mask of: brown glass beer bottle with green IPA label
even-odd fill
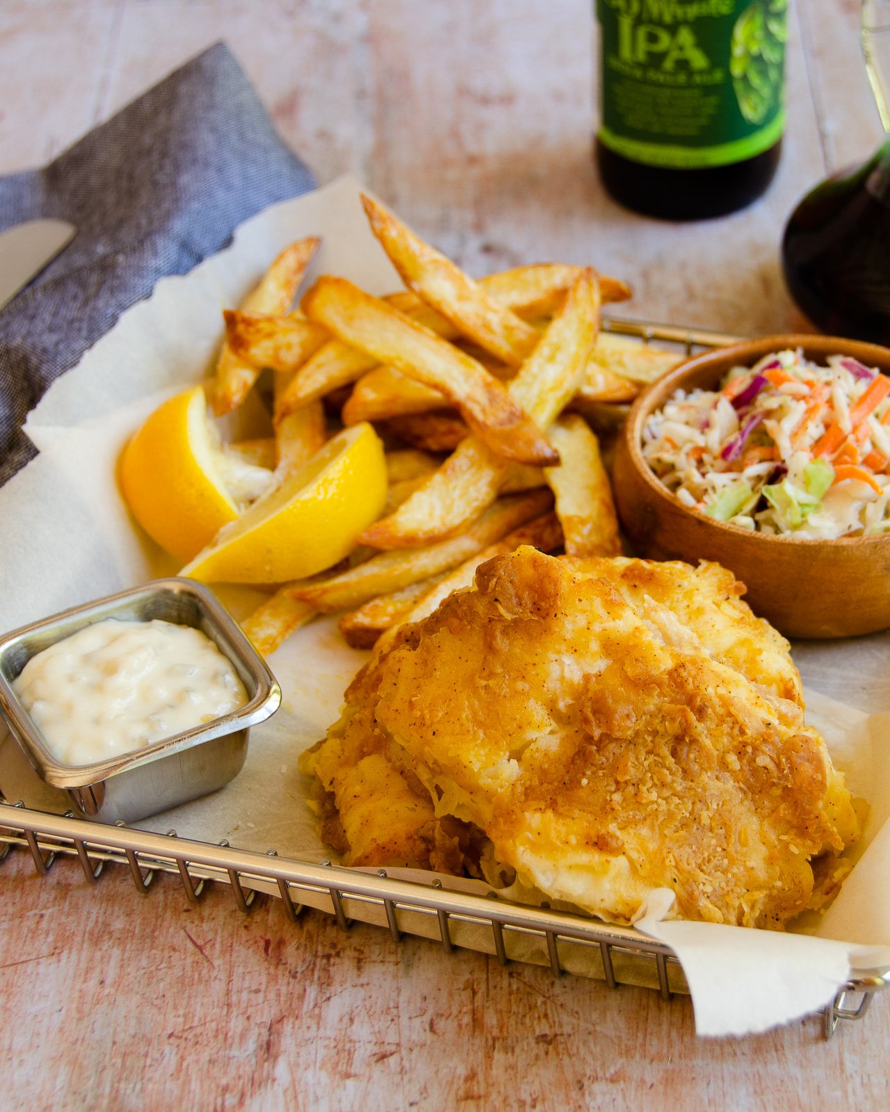
[[[620,203],[721,216],[769,186],[782,147],[787,0],[596,0],[596,160]]]

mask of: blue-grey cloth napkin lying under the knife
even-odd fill
[[[185,274],[275,201],[315,187],[225,43],[41,170],[0,178],[0,231],[60,217],[78,236],[0,311],[0,484],[36,455],[29,409],[165,275]]]

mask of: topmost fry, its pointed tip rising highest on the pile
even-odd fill
[[[383,205],[364,193],[362,203],[374,235],[405,285],[449,320],[462,336],[504,363],[518,365],[534,350],[540,338],[536,328],[491,297],[484,287],[415,236]]]

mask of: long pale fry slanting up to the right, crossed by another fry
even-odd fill
[[[596,338],[599,286],[582,275],[541,342],[507,384],[511,397],[546,427],[573,396]],[[416,419],[416,418],[415,418]],[[467,437],[424,485],[362,534],[375,548],[413,548],[454,536],[497,497],[507,465],[478,437]]]

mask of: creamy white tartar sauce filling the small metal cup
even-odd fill
[[[109,618],[32,656],[16,692],[53,756],[69,765],[130,753],[247,702],[200,629]]]

